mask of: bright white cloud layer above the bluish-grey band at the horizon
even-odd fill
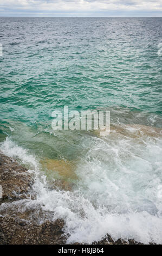
[[[2,13],[160,12],[162,0],[0,0]]]

